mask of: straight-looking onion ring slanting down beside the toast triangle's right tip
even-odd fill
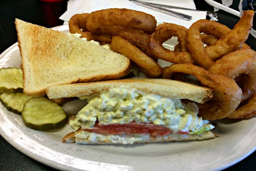
[[[113,36],[110,49],[130,58],[149,77],[159,77],[162,74],[158,63],[122,37]]]

